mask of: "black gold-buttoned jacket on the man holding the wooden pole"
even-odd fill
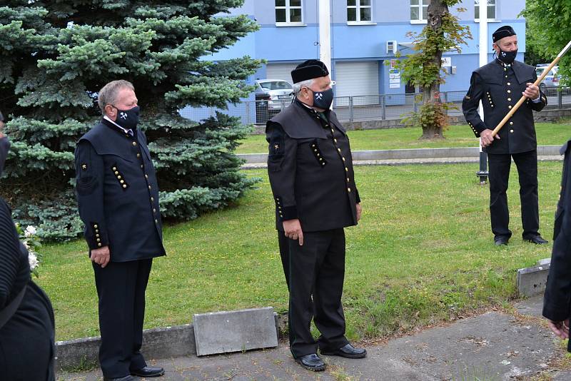
[[[513,61],[511,68],[504,68],[495,59],[477,68],[470,79],[470,89],[462,103],[462,110],[476,137],[486,128],[493,130],[522,97],[527,87],[537,79],[535,68]],[[540,102],[526,99],[514,115],[500,129],[500,140],[485,148],[487,153],[520,153],[537,148],[533,111],[541,111],[547,105],[545,94],[540,93]],[[477,113],[480,99],[484,108],[484,120]]]

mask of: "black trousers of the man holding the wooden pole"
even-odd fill
[[[539,235],[540,216],[537,196],[537,151],[522,153],[489,153],[490,165],[490,217],[492,233],[510,238],[512,231],[510,213],[507,210],[507,185],[510,178],[512,159],[520,178],[520,200],[522,208],[523,238]]]

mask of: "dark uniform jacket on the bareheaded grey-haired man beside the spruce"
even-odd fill
[[[90,252],[112,262],[165,255],[155,169],[142,131],[130,136],[103,119],[76,147],[76,192]]]

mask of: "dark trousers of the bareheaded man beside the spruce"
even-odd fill
[[[119,378],[146,367],[141,355],[145,290],[152,259],[110,262],[105,268],[93,263],[99,297],[103,376]]]

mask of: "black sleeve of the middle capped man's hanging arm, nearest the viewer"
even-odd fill
[[[295,166],[298,143],[278,123],[268,122],[268,176],[279,220],[298,218],[295,203]]]

